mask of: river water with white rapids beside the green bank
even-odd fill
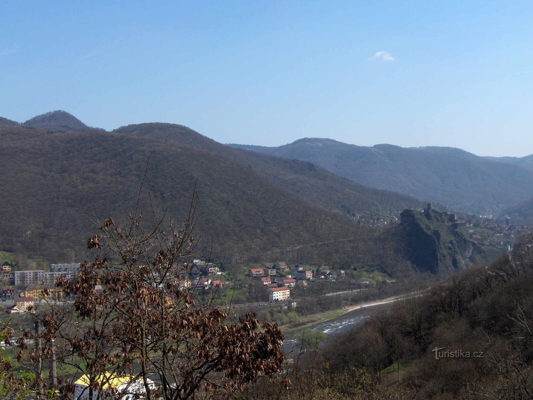
[[[322,331],[329,336],[343,332],[350,327],[364,321],[370,315],[376,313],[377,311],[386,311],[391,308],[393,303],[385,303],[376,306],[368,306],[365,308],[359,308],[356,310],[349,311],[346,314],[341,315],[340,317],[329,319],[328,321],[320,322],[315,325],[305,327],[305,329],[310,329],[311,331]],[[296,339],[298,334],[303,330],[297,329],[291,331],[285,335],[285,340],[283,341],[283,350],[285,354],[290,353],[297,354],[300,349],[295,348],[298,340]],[[287,355],[287,357],[290,357]]]

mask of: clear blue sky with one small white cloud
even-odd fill
[[[524,156],[532,66],[533,2],[0,3],[0,116],[19,122]]]

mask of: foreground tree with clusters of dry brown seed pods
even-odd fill
[[[198,257],[196,202],[193,196],[179,228],[169,215],[156,218],[153,209],[147,223],[139,201],[119,223],[93,218],[91,260],[74,281],[56,282],[73,301],[35,309],[44,329],[38,337],[27,332],[19,341],[22,351],[27,339],[39,339],[43,346],[30,352],[31,360],[50,358],[54,340],[58,370],[84,374],[91,399],[138,393],[133,382],[142,382],[149,400],[183,400],[199,391],[230,396],[280,372],[283,335],[277,325],[265,322],[260,330],[255,314],[229,323],[227,306],[200,302],[187,287],[189,261]],[[126,375],[133,377],[131,385],[112,388],[112,379]],[[63,396],[74,390],[72,379],[56,386]]]

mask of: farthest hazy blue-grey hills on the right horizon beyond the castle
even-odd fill
[[[231,146],[309,161],[362,185],[457,211],[501,210],[533,196],[533,173],[525,167],[449,147],[361,147],[314,138],[280,147]]]

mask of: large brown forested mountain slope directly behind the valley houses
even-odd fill
[[[391,274],[409,272],[393,230],[313,206],[212,151],[133,134],[3,126],[0,157],[9,194],[0,198],[3,250],[50,262],[84,259],[91,233],[86,213],[117,218],[116,182],[124,207],[134,203],[148,164],[156,213],[168,207],[177,220],[185,218],[196,183],[197,235],[212,242],[219,261],[372,262]],[[146,193],[142,202],[147,206]]]

